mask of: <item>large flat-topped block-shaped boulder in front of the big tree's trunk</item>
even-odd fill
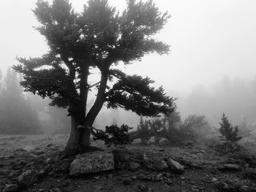
[[[114,169],[113,153],[95,151],[77,155],[70,165],[71,175],[88,174]]]

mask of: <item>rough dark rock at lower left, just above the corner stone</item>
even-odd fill
[[[18,182],[22,186],[32,185],[34,183],[37,183],[37,180],[38,180],[37,172],[34,170],[27,170],[26,172],[23,172],[23,174],[21,174],[18,177]]]

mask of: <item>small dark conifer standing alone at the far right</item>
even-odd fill
[[[228,147],[230,145],[236,144],[242,137],[238,136],[238,126],[231,126],[230,122],[225,116],[225,113],[223,113],[222,122],[220,122],[219,125],[219,132],[221,134],[219,137],[222,141],[224,141],[227,152],[227,150],[229,150]]]

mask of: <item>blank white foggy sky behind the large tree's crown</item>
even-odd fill
[[[0,69],[15,57],[40,56],[48,50],[31,9],[35,0],[1,0]],[[72,0],[80,11],[86,1]],[[109,0],[118,9],[125,0]],[[172,17],[158,38],[171,45],[169,55],[148,55],[126,72],[156,80],[166,91],[190,91],[222,75],[252,80],[256,76],[255,0],[154,0]]]

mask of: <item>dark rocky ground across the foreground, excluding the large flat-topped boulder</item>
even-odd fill
[[[256,158],[203,147],[105,148],[106,172],[70,175],[75,157],[56,155],[67,135],[0,137],[0,191],[256,191]]]

